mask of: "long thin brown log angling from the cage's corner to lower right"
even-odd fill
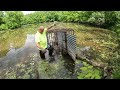
[[[77,49],[76,59],[80,59],[82,61],[85,61],[89,63],[90,65],[100,68],[103,71],[102,78],[103,79],[112,79],[112,72],[113,72],[113,66],[109,66],[108,63],[104,63],[101,61],[95,61],[94,59],[88,59],[83,52],[88,53],[90,48],[83,48],[83,52],[80,49]],[[82,53],[82,54],[81,54]]]

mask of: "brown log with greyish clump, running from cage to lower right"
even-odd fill
[[[109,66],[108,63],[102,61],[95,61],[94,56],[96,55],[91,47],[77,48],[77,59],[85,61],[95,68],[99,68],[103,71],[103,78],[111,78],[113,72],[113,66]],[[88,57],[87,57],[88,55]],[[92,58],[93,57],[93,58]]]

